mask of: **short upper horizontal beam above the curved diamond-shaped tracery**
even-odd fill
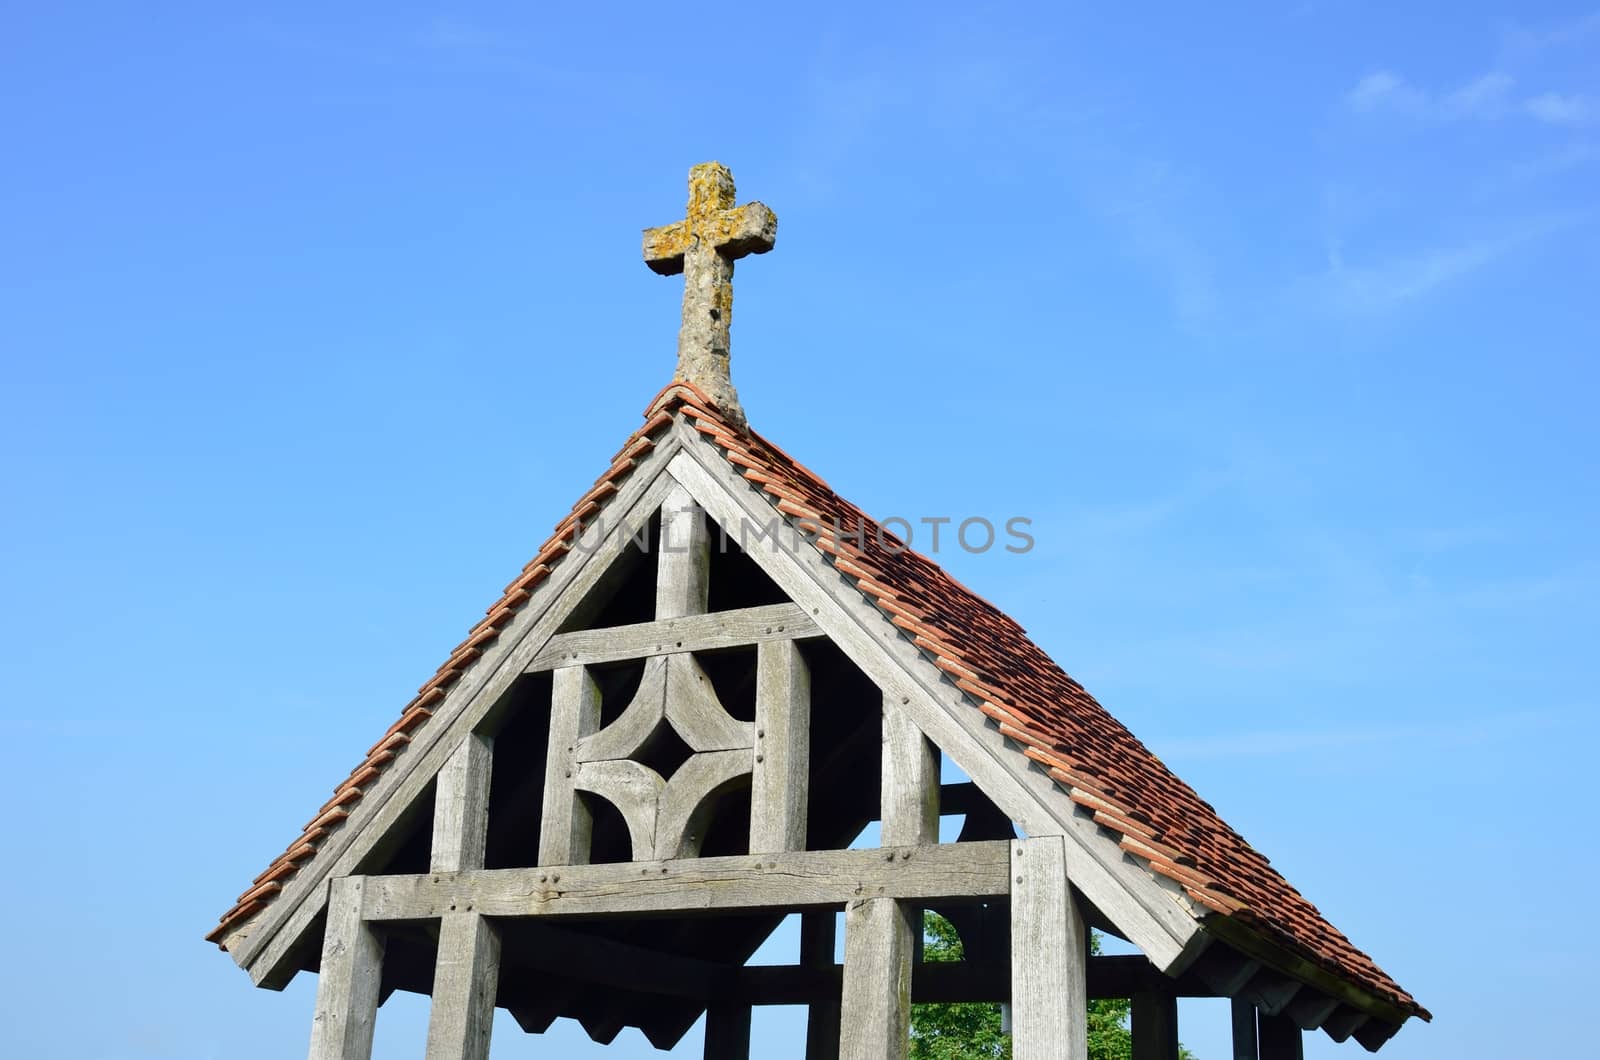
[[[557,666],[595,666],[674,652],[722,652],[768,640],[821,637],[798,604],[763,604],[712,615],[685,615],[608,629],[579,629],[550,637],[530,671]]]

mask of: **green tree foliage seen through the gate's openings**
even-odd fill
[[[1090,935],[1090,953],[1099,953],[1099,935]],[[925,961],[960,961],[962,938],[938,913],[923,916]],[[1131,1060],[1133,1034],[1125,998],[1090,1002],[1090,1060]],[[1011,1038],[1000,1031],[1000,1006],[981,1001],[912,1006],[912,1060],[1011,1060]],[[1178,1049],[1182,1060],[1195,1060]]]

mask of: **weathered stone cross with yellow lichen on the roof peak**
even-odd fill
[[[717,408],[744,423],[739,395],[728,375],[728,327],[733,323],[733,263],[765,255],[778,235],[778,215],[758,202],[733,205],[733,173],[720,162],[690,170],[688,216],[645,229],[645,264],[661,275],[683,274],[683,327],[678,370]]]

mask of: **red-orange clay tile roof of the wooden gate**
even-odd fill
[[[1227,924],[1243,930],[1403,1014],[1429,1018],[1426,1009],[1350,945],[1266,857],[1069,677],[1018,623],[933,560],[904,548],[781,448],[749,429],[734,428],[704,394],[683,383],[669,386],[650,405],[645,423],[557,524],[522,575],[506,586],[400,719],[206,938],[226,945],[234,932],[267,909],[571,551],[574,528],[589,525],[602,512],[619,484],[674,423],[709,439],[778,512],[803,525],[834,568],[965,693],[973,709],[1019,745],[1064,797],[1117,837],[1123,852],[1150,873],[1173,881],[1195,903],[1205,927],[1214,930]]]

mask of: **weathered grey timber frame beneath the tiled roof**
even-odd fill
[[[760,1004],[810,1006],[806,1057],[826,1060],[904,1057],[914,1001],[1010,1004],[1018,1060],[1086,1057],[1086,1001],[1101,996],[1133,999],[1139,1060],[1176,1058],[1181,996],[1234,999],[1235,1057],[1298,1057],[1301,1031],[1318,1026],[1376,1049],[1410,1015],[1208,916],[1128,857],[803,536],[739,551],[781,599],[710,610],[714,530],[770,527],[774,511],[682,416],[603,511],[342,826],[226,937],[256,985],[318,970],[312,1060],[370,1057],[397,988],[432,994],[430,1060],[483,1060],[496,1006],[528,1031],[574,1015],[598,1041],[635,1025],[662,1047],[704,1014],[715,1060],[749,1055]],[[640,527],[654,527],[653,616],[640,605],[600,621],[610,597],[638,592]],[[819,778],[861,762],[813,741],[822,652],[824,669],[874,690],[851,705],[866,719],[851,746],[880,745],[877,799],[859,820],[829,818],[826,841]],[[715,656],[747,661],[750,717],[718,692]],[[536,857],[491,866],[498,730],[514,700],[547,703],[539,761],[512,762],[542,767],[525,799]],[[941,753],[971,781],[941,785]],[[725,799],[749,802],[738,842],[718,823]],[[963,837],[941,844],[939,815],[955,812]],[[866,820],[880,821],[880,845],[845,849]],[[730,842],[738,852],[718,852]],[[426,868],[390,868],[406,844]],[[987,925],[990,943],[923,964],[923,909],[949,909],[963,938]],[[746,967],[792,913],[798,962]],[[664,921],[717,924],[731,942],[672,953],[626,934]],[[1090,958],[1090,927],[1142,956]]]

